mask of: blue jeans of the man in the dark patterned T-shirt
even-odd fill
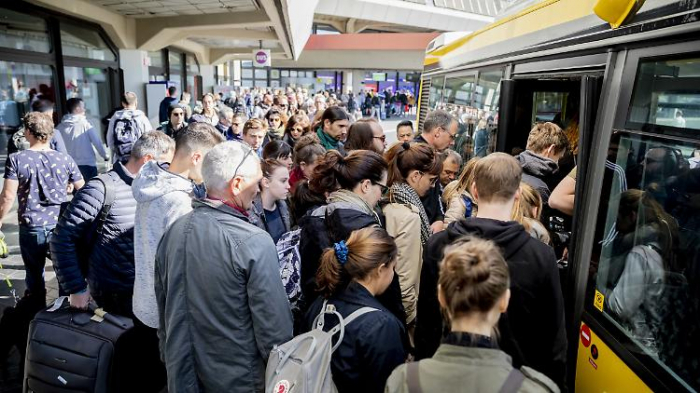
[[[32,294],[46,294],[44,282],[44,265],[49,251],[49,235],[55,225],[45,227],[19,226],[19,249],[22,253],[24,270],[27,273],[24,282]]]

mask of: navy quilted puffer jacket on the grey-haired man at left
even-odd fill
[[[107,216],[102,236],[94,240],[89,255],[87,282],[90,291],[129,294],[134,288],[134,215],[136,200],[131,192],[133,177],[117,163],[111,178],[114,203]],[[76,194],[61,215],[51,236],[51,255],[58,282],[64,291],[77,293],[87,287],[81,271],[84,251],[95,231],[97,215],[104,203],[102,182],[93,179]]]

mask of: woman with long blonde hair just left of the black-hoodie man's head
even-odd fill
[[[461,220],[462,218],[474,217],[478,210],[476,199],[470,190],[474,183],[474,168],[479,157],[474,157],[464,166],[459,179],[451,182],[445,187],[442,199],[445,201],[447,210],[445,211],[445,225]]]

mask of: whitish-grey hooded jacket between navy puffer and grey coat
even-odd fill
[[[158,306],[153,287],[155,255],[163,233],[178,218],[192,211],[194,184],[168,172],[155,161],[147,162],[131,186],[136,199],[134,225],[134,315],[158,328]]]

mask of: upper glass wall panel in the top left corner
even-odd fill
[[[46,22],[30,15],[0,8],[0,47],[51,52]]]

